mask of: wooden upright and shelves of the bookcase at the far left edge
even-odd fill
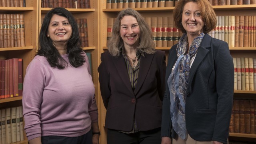
[[[24,14],[25,46],[13,48],[0,48],[0,59],[22,58],[23,78],[26,68],[34,58],[38,38],[38,0],[26,0],[26,7],[0,7],[0,13]],[[0,99],[0,109],[22,106],[22,96]],[[27,144],[24,131],[24,141],[13,144]]]

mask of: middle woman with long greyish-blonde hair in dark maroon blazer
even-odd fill
[[[130,8],[119,12],[98,67],[108,144],[160,144],[166,56]]]

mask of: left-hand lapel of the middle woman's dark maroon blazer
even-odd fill
[[[129,75],[126,68],[126,63],[124,61],[124,58],[122,55],[116,57],[112,57],[113,63],[116,67],[116,70],[118,71],[118,74],[120,75],[121,79],[124,81],[124,84],[128,88],[128,90],[133,94],[131,82],[129,79]]]

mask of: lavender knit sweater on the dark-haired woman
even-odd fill
[[[94,84],[85,55],[84,65],[52,68],[44,56],[35,56],[26,70],[23,115],[28,140],[41,136],[76,137],[98,122]]]

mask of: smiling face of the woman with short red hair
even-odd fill
[[[182,12],[182,26],[188,36],[198,36],[203,32],[204,21],[201,16],[198,4],[188,2],[185,4]]]

